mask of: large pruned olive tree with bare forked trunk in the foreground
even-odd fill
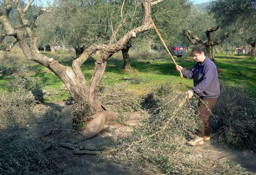
[[[25,57],[28,60],[35,61],[46,68],[50,69],[55,75],[60,78],[68,91],[70,96],[77,103],[78,108],[87,108],[93,115],[101,112],[102,106],[97,99],[97,93],[101,86],[103,74],[105,72],[107,60],[117,51],[124,48],[131,39],[136,38],[137,35],[143,33],[149,29],[152,29],[150,23],[150,9],[152,6],[161,2],[161,0],[150,1],[142,0],[142,20],[141,24],[137,23],[134,28],[131,28],[122,35],[118,35],[118,31],[122,25],[127,21],[126,18],[120,19],[120,23],[117,26],[113,26],[113,32],[110,39],[104,46],[103,44],[91,44],[85,49],[80,57],[72,62],[72,67],[64,66],[53,58],[47,57],[38,51],[38,37],[35,35],[33,28],[35,26],[36,19],[43,13],[47,12],[46,9],[40,9],[34,16],[31,23],[29,22],[26,11],[34,0],[29,0],[24,8],[18,0],[4,0],[4,8],[0,14],[0,24],[3,26],[5,36],[11,36],[17,40],[21,47]],[[19,27],[10,25],[9,14],[12,10],[16,10],[21,19]],[[74,34],[75,35],[75,34]],[[117,37],[118,36],[118,37]],[[11,47],[11,46],[10,46]],[[81,71],[81,65],[91,56],[95,51],[102,50],[100,58],[95,62],[95,68],[88,84]]]

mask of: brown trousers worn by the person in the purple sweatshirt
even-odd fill
[[[201,99],[198,103],[198,111],[196,115],[199,117],[201,126],[196,131],[198,137],[210,136],[210,115],[216,104],[217,99]]]

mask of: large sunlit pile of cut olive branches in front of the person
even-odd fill
[[[151,117],[132,135],[120,140],[111,158],[160,174],[240,174],[239,168],[209,160],[184,144],[186,133],[197,126],[198,99],[193,97],[182,106],[185,94],[170,81],[153,88],[143,98],[142,106]]]

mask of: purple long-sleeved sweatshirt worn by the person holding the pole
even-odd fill
[[[217,67],[209,58],[206,57],[203,63],[197,62],[190,70],[183,68],[181,72],[186,78],[193,78],[191,91],[199,97],[215,99],[220,96]]]

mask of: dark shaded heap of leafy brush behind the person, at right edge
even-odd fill
[[[243,86],[221,85],[213,114],[221,124],[218,139],[234,149],[256,152],[256,99]]]

